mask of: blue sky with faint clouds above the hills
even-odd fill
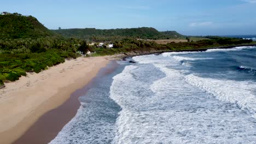
[[[256,34],[256,0],[8,0],[0,11],[49,29],[154,27],[184,35]]]

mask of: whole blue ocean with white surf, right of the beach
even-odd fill
[[[92,84],[50,143],[256,143],[256,47],[132,60]]]

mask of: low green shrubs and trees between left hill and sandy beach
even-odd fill
[[[10,39],[0,40],[0,80],[15,81],[27,71],[39,73],[65,58],[76,58],[81,49],[78,39]]]

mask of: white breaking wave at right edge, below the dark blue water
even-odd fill
[[[202,78],[189,74],[185,81],[206,91],[222,101],[237,104],[241,109],[248,110],[256,118],[256,97],[252,93],[256,83],[249,81],[217,80]]]

